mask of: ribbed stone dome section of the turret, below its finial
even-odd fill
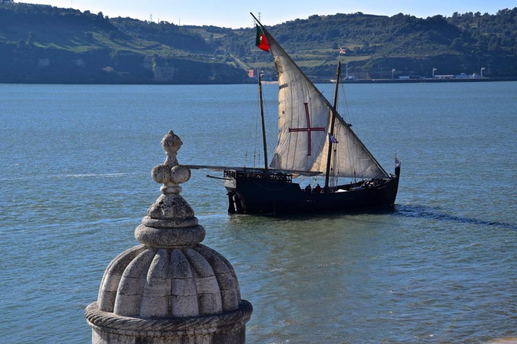
[[[98,298],[104,312],[142,318],[220,314],[240,302],[232,265],[202,244],[121,253],[106,269]]]

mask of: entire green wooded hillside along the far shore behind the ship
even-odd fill
[[[312,15],[268,28],[314,80],[334,74],[339,48],[361,78],[479,73],[517,76],[517,7],[427,19],[399,13]],[[255,29],[177,26],[0,0],[0,82],[242,83],[275,78]]]

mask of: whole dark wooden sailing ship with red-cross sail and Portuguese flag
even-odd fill
[[[255,18],[256,45],[270,51],[278,73],[279,136],[268,166],[261,77],[258,78],[264,168],[199,166],[223,170],[232,214],[345,211],[392,205],[397,197],[400,161],[388,174],[337,111],[340,62],[333,104],[314,86],[267,29]],[[302,188],[293,178],[325,176],[325,184]],[[337,178],[351,178],[341,185]]]

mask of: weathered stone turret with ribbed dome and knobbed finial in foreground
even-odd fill
[[[151,174],[162,194],[136,227],[142,244],[111,261],[86,307],[92,342],[244,343],[252,306],[232,265],[201,244],[205,229],[179,194],[190,178],[176,159],[183,143],[172,130],[161,143],[167,158]]]

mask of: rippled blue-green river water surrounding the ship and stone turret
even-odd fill
[[[332,85],[319,85],[331,94]],[[264,85],[269,156],[276,85]],[[88,343],[105,267],[139,244],[168,130],[184,164],[260,166],[256,86],[0,85],[0,342]],[[517,82],[346,88],[393,209],[230,216],[221,181],[184,198],[253,304],[250,343],[496,343],[517,337]],[[252,139],[250,139],[250,137]],[[262,158],[262,157],[260,157]],[[246,160],[245,160],[246,159]],[[301,183],[311,182],[310,178]]]

